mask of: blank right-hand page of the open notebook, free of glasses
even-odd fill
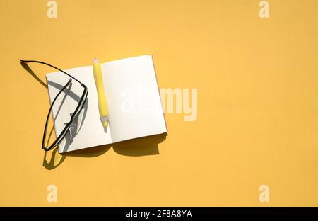
[[[167,132],[151,55],[101,67],[112,142]]]

